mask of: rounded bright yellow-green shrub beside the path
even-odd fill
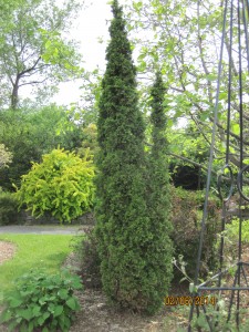
[[[17,196],[34,216],[50,212],[60,221],[71,222],[93,205],[93,177],[94,167],[86,156],[81,159],[73,153],[54,149],[22,176]]]

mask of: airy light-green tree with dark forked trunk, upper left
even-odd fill
[[[32,94],[37,91],[44,98],[58,82],[80,73],[82,56],[65,38],[79,2],[20,0],[1,7],[0,105],[17,108],[22,86],[29,85]]]

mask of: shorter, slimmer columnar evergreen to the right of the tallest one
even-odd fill
[[[152,224],[153,243],[151,259],[154,263],[157,278],[157,299],[155,303],[160,305],[162,299],[167,294],[173,277],[173,243],[170,240],[172,224],[169,220],[169,174],[168,174],[168,143],[166,135],[166,115],[164,106],[165,86],[160,72],[156,73],[156,80],[151,93],[151,123],[153,146],[149,155],[149,180],[147,208]]]

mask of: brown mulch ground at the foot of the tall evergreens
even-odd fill
[[[65,266],[75,268],[76,264],[75,257],[70,255]],[[100,289],[86,288],[76,295],[81,311],[70,332],[175,332],[178,328],[186,326],[186,319],[180,314],[176,317],[169,307],[163,308],[157,315],[143,317],[112,308]]]

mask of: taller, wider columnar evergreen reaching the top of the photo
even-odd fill
[[[97,123],[101,151],[95,214],[102,283],[108,299],[120,307],[153,313],[167,288],[160,287],[168,274],[162,270],[160,251],[168,252],[165,243],[155,243],[163,236],[156,234],[157,225],[147,214],[145,125],[137,106],[136,70],[116,0],[112,10]]]

